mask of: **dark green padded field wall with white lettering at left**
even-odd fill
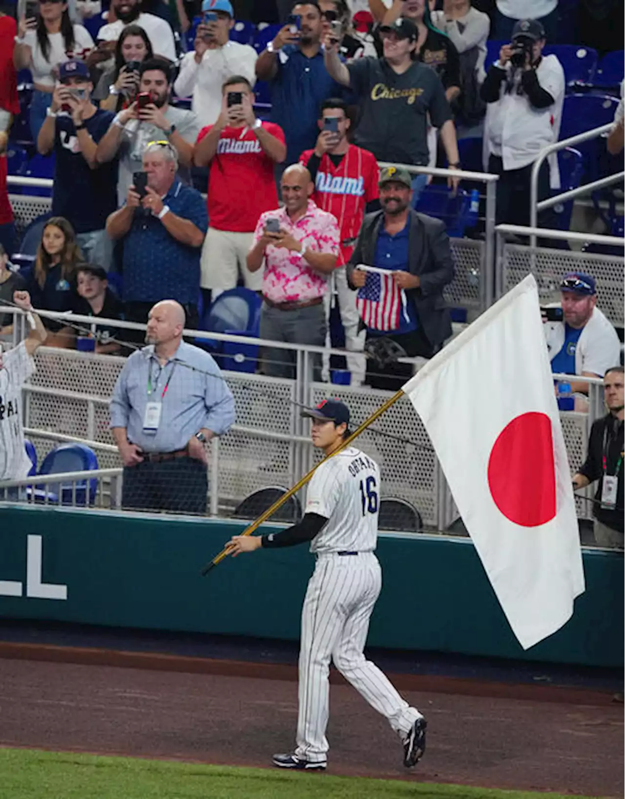
[[[307,547],[200,569],[244,523],[114,511],[2,507],[0,617],[299,640],[314,560]],[[262,533],[279,529],[265,525]],[[583,551],[586,592],[572,619],[524,651],[473,544],[381,534],[384,587],[369,646],[622,668],[625,558]],[[253,606],[253,612],[250,612]],[[423,612],[405,613],[405,608]]]

